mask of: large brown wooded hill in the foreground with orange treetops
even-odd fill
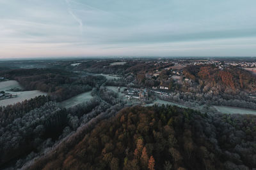
[[[251,169],[255,121],[248,115],[134,106],[102,120],[83,139],[73,136],[29,169]]]

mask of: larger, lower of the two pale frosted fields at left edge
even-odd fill
[[[35,98],[36,96],[42,96],[42,95],[46,96],[47,95],[46,93],[40,92],[38,90],[25,91],[25,92],[8,92],[8,93],[18,94],[18,97],[0,100],[0,106],[7,106],[9,104],[15,104],[15,103],[18,103],[18,102],[22,102],[22,101],[25,101],[25,100]]]

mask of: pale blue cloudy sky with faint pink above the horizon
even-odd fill
[[[255,0],[0,0],[0,58],[256,56]]]

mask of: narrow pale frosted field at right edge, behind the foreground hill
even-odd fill
[[[249,110],[244,108],[236,108],[230,106],[213,106],[217,111],[221,113],[228,113],[228,114],[251,114],[256,115],[256,110]]]

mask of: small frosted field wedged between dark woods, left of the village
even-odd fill
[[[84,93],[79,94],[75,97],[67,99],[66,101],[61,102],[60,106],[63,107],[63,108],[71,108],[73,106],[76,106],[77,104],[84,103],[86,101],[90,101],[90,99],[93,98],[91,92],[92,91],[84,92]]]

